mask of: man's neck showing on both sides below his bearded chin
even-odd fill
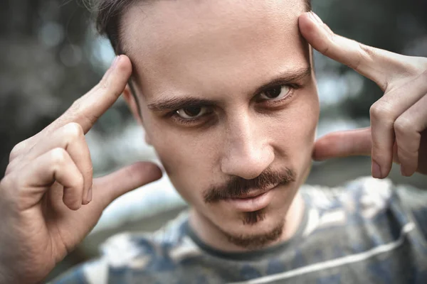
[[[295,235],[302,222],[304,207],[304,200],[302,199],[300,192],[297,192],[285,216],[283,231],[280,238],[268,244],[268,246],[273,246],[280,242],[288,241],[292,238],[292,236]],[[191,208],[190,211],[189,225],[191,226],[191,229],[194,230],[195,234],[199,236],[201,241],[204,241],[205,244],[211,246],[214,249],[228,252],[251,251],[251,249],[245,249],[240,246],[236,246],[235,244],[232,244],[230,241],[228,241],[227,236],[223,234],[223,232],[218,229],[215,224],[204,217],[204,215],[197,212],[194,208]]]

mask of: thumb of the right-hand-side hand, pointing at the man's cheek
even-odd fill
[[[315,142],[314,160],[371,155],[371,128],[329,133]]]

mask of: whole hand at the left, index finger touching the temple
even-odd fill
[[[42,280],[107,204],[161,177],[156,165],[136,163],[93,179],[85,133],[120,97],[131,72],[129,58],[116,58],[97,86],[11,152],[0,182],[0,283]]]

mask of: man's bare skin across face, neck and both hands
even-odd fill
[[[256,249],[292,236],[304,206],[297,190],[311,156],[371,155],[376,178],[388,175],[392,160],[403,175],[427,173],[427,59],[335,35],[314,13],[302,13],[296,0],[265,2],[154,1],[130,9],[125,52],[133,62],[142,119],[126,87],[131,61],[121,55],[53,124],[14,147],[0,181],[0,283],[40,282],[83,240],[107,204],[160,178],[152,163],[93,178],[84,134],[122,92],[191,204],[191,226],[218,249]],[[314,142],[315,77],[312,70],[301,72],[310,53],[298,27],[312,48],[384,91],[371,107],[369,129]],[[259,89],[279,75],[288,78],[280,84],[299,87],[290,93],[288,87]],[[279,102],[280,91],[288,96]],[[158,111],[171,97],[176,109]],[[176,104],[182,97],[193,104],[208,99],[210,108],[203,107],[198,122],[179,124],[172,114],[186,113]],[[218,201],[275,183],[280,185],[255,212]]]

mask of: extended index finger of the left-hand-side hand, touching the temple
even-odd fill
[[[75,122],[85,133],[102,114],[117,101],[132,73],[132,64],[126,55],[119,55],[105,72],[102,80],[87,94],[76,100],[54,123],[53,129]]]

